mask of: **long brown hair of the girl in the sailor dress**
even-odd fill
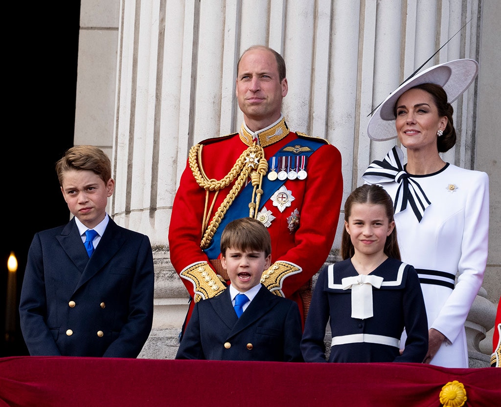
[[[351,208],[355,203],[368,203],[371,205],[382,205],[386,211],[386,216],[388,217],[388,222],[393,221],[393,201],[388,193],[380,185],[369,185],[365,184],[357,189],[355,189],[350,196],[346,199],[345,203],[345,222],[348,222],[351,216]],[[393,257],[397,260],[400,258],[400,249],[398,248],[397,241],[397,228],[394,227],[393,231],[389,236],[386,236],[386,242],[384,244],[384,254],[388,257]],[[351,242],[351,237],[346,230],[343,229],[343,237],[341,238],[341,257],[343,260],[353,257],[355,254],[355,248]]]

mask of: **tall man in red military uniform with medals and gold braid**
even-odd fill
[[[237,66],[239,133],[190,149],[172,208],[170,259],[190,307],[226,289],[219,239],[224,226],[246,216],[272,238],[272,265],[262,283],[298,303],[303,324],[312,277],[332,248],[343,194],[341,154],[326,140],[290,131],[282,115],[285,62],[264,46],[246,50]]]

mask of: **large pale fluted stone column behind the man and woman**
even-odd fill
[[[189,148],[239,128],[240,54],[265,44],[284,56],[287,122],[339,148],[346,198],[395,143],[369,141],[370,111],[470,18],[424,68],[476,59],[478,8],[479,0],[121,0],[111,214],[154,248],[154,329],[142,356],[173,357],[177,347],[187,292],[169,260],[172,202]],[[446,157],[466,168],[474,166],[474,95],[471,87],[456,102],[460,137]]]

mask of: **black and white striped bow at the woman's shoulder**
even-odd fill
[[[373,161],[365,170],[362,179],[370,184],[382,184],[395,181],[399,184],[393,208],[395,213],[407,209],[410,205],[418,222],[421,222],[424,211],[431,204],[421,186],[405,172],[402,150],[393,147],[383,161]]]

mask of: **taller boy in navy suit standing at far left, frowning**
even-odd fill
[[[70,148],[56,172],[74,217],[36,233],[30,246],[19,306],[28,350],[137,357],[153,320],[150,241],[106,213],[115,182],[102,150]]]

